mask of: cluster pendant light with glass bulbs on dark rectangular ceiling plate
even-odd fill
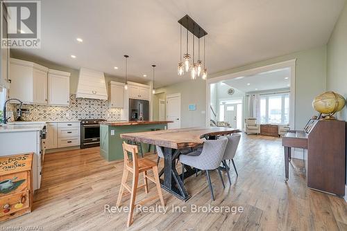
[[[208,76],[208,71],[206,68],[206,63],[205,63],[205,35],[207,33],[203,28],[198,26],[196,22],[191,19],[188,15],[185,15],[182,19],[178,21],[180,24],[180,62],[178,63],[177,67],[177,74],[182,76],[184,73],[189,73],[190,71],[190,77],[192,80],[196,80],[197,77],[201,77],[203,80],[206,80]],[[184,26],[187,29],[186,33],[186,51],[185,54],[183,55],[184,63],[182,62],[182,26]],[[189,55],[189,31],[192,33],[192,56]],[[203,38],[203,61],[200,59],[200,51],[201,51],[201,46],[200,46],[200,39],[201,37]],[[195,51],[196,51],[196,46],[195,46],[195,40],[196,38],[198,39],[198,59],[196,61],[195,57]],[[196,62],[195,62],[196,61]]]

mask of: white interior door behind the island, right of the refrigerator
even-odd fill
[[[167,124],[168,129],[180,128],[180,93],[167,95]]]

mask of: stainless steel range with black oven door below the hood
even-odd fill
[[[100,146],[100,122],[103,119],[81,120],[81,149]]]

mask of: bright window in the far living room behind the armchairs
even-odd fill
[[[260,95],[260,122],[289,123],[289,93]]]

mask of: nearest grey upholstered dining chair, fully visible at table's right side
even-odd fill
[[[190,154],[180,155],[180,163],[183,165],[189,165],[195,167],[196,169],[201,169],[206,172],[206,177],[208,178],[208,186],[210,187],[211,198],[214,201],[213,188],[211,183],[211,178],[209,171],[218,169],[219,177],[225,187],[223,178],[221,177],[221,172],[219,165],[221,165],[221,160],[223,159],[224,152],[226,151],[226,145],[228,145],[228,138],[221,137],[218,140],[206,140],[203,143],[203,150],[193,151]],[[199,154],[196,156],[196,154]],[[184,181],[184,172],[183,181]]]

